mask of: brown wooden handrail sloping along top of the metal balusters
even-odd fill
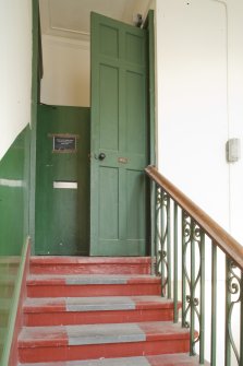
[[[180,189],[165,178],[156,167],[147,166],[146,174],[190,215],[205,231],[227,256],[243,271],[243,247],[205,211],[187,198]]]

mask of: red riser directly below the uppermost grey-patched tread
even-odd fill
[[[88,297],[160,295],[157,283],[116,285],[27,285],[28,297]]]

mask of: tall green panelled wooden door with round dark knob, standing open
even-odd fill
[[[92,14],[90,255],[144,256],[147,31]]]

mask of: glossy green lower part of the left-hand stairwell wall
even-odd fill
[[[29,135],[27,126],[0,162],[0,359],[22,248],[28,236]]]

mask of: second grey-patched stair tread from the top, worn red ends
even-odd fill
[[[172,306],[172,300],[161,296],[29,297],[24,304],[24,311],[133,310]]]

